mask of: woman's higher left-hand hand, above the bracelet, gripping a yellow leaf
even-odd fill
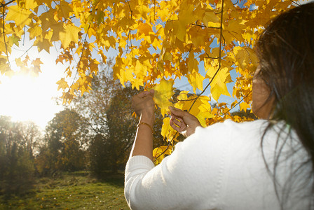
[[[137,116],[141,117],[144,123],[153,125],[155,120],[155,102],[153,102],[154,90],[140,92],[139,94],[132,97],[132,108],[134,109]]]

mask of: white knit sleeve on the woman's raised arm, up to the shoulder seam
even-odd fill
[[[211,131],[210,137],[217,138],[219,131]],[[207,137],[207,129],[197,128],[156,167],[144,156],[130,158],[125,168],[125,198],[129,207],[214,209],[228,142],[210,141]]]

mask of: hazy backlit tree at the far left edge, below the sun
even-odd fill
[[[34,123],[13,123],[0,116],[0,194],[27,193],[34,183],[34,146],[39,130]]]

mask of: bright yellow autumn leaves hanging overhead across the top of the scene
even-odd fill
[[[251,106],[252,73],[258,65],[254,41],[271,18],[293,6],[291,0],[2,1],[0,71],[13,73],[8,57],[25,36],[39,51],[60,47],[56,62],[67,70],[57,84],[64,102],[71,102],[93,88],[98,64],[107,61],[112,48],[118,54],[114,78],[122,85],[158,90],[155,99],[163,115],[172,104],[193,113],[203,126],[226,118],[241,121],[228,111],[238,104],[241,110]],[[42,63],[26,55],[15,64],[38,74]],[[226,84],[232,82],[231,70],[237,74],[235,102],[212,108],[212,99],[230,96]],[[182,77],[201,94],[181,92],[170,102],[173,81]],[[203,95],[208,88],[210,97]],[[171,142],[177,134],[168,121],[164,119],[162,134]]]

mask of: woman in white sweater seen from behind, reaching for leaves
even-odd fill
[[[188,138],[156,167],[153,91],[133,97],[141,117],[125,168],[130,208],[313,209],[313,26],[308,3],[282,13],[261,34],[252,104],[260,120],[203,128],[170,108],[170,125]]]

